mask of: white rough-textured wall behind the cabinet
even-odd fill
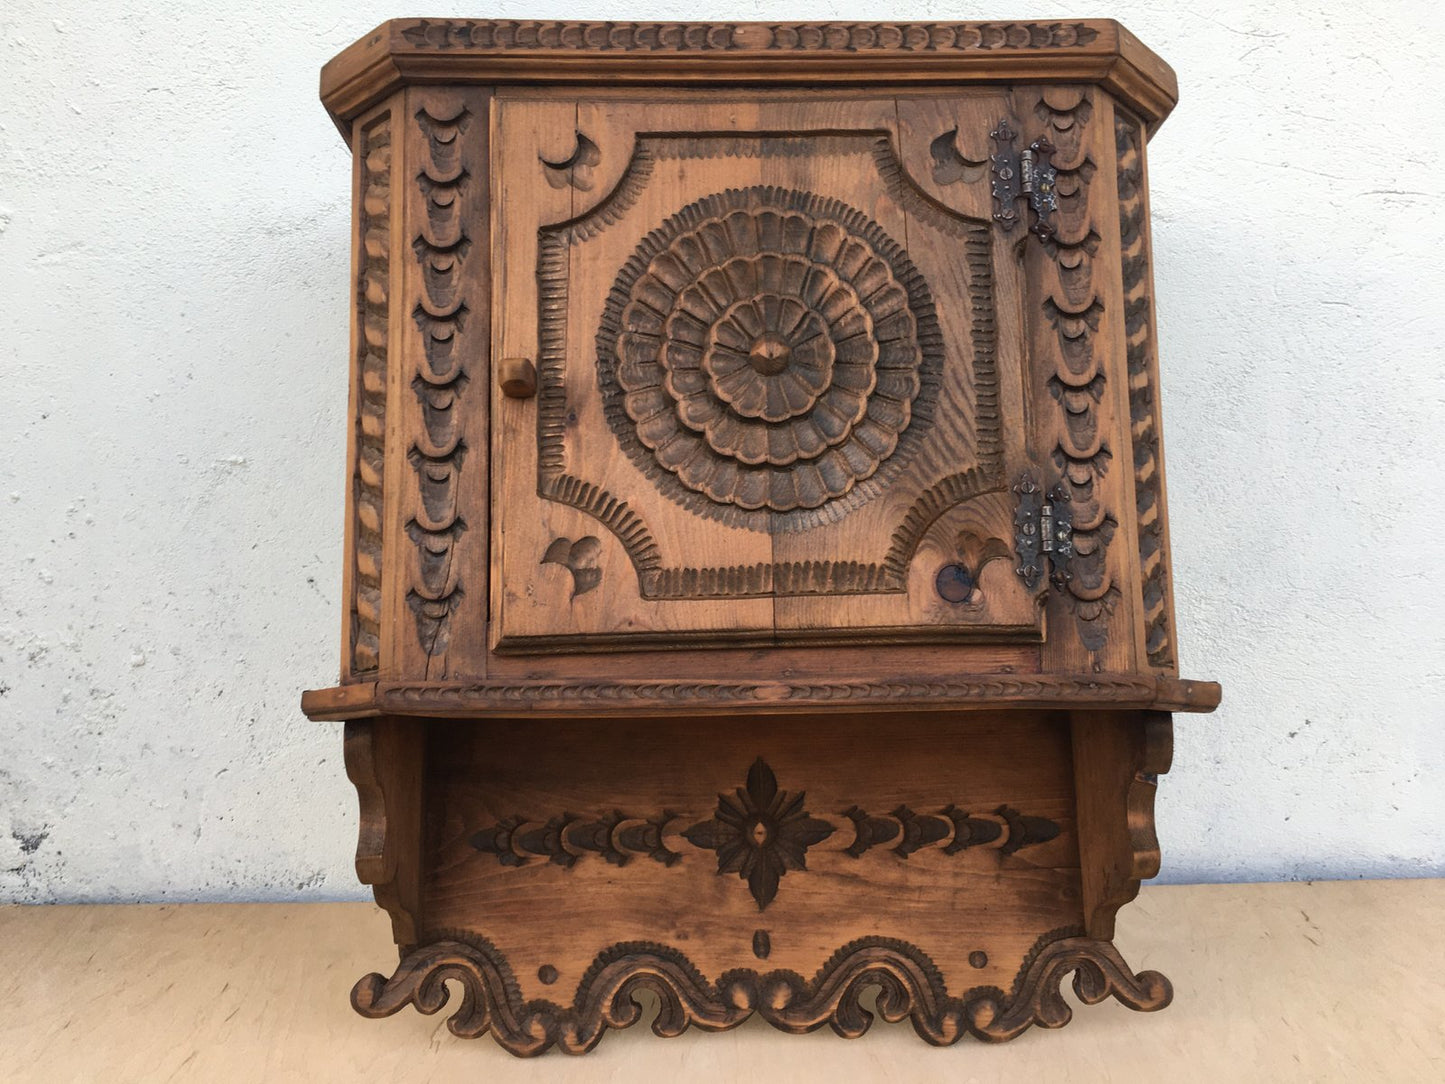
[[[1445,873],[1432,4],[9,0],[0,899],[361,893],[338,727],[296,707],[341,611],[316,72],[448,13],[1126,22],[1183,94],[1150,149],[1175,582],[1225,685],[1178,717],[1166,876]]]

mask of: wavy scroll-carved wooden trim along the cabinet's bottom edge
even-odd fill
[[[447,1022],[454,1035],[470,1039],[490,1031],[507,1052],[535,1057],[553,1045],[585,1054],[608,1028],[637,1023],[642,990],[660,1002],[652,1029],[662,1038],[692,1025],[725,1031],[754,1013],[785,1032],[828,1025],[840,1036],[858,1038],[873,1023],[873,1013],[861,1005],[871,986],[884,1020],[909,1020],[923,1041],[946,1046],[964,1035],[1003,1042],[1033,1025],[1062,1028],[1072,1018],[1061,990],[1069,973],[1085,1005],[1114,997],[1130,1009],[1155,1012],[1173,999],[1169,980],[1157,971],[1136,974],[1108,941],[1062,929],[1038,941],[1009,993],[977,986],[954,997],[922,948],[883,937],[851,941],[811,980],[786,970],[736,968],[714,981],[675,948],[624,942],[595,957],[568,1006],[523,1002],[506,957],[486,938],[455,934],[407,952],[390,978],[364,976],[351,990],[351,1005],[368,1018],[390,1016],[407,1005],[432,1015],[447,1006],[447,981],[455,980],[462,996]]]

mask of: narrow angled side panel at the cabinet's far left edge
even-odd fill
[[[381,575],[387,413],[392,108],[353,129],[350,432],[347,439],[342,681],[373,676],[381,658]]]

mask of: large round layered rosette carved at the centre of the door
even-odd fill
[[[642,241],[608,298],[598,373],[613,432],[663,493],[786,530],[906,465],[939,343],[926,283],[877,223],[760,186]]]

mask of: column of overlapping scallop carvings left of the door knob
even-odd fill
[[[435,116],[425,106],[416,111],[416,126],[426,139],[426,156],[416,176],[426,214],[412,241],[422,272],[420,293],[412,309],[422,337],[422,363],[412,379],[422,425],[406,454],[416,471],[416,509],[406,523],[416,546],[416,568],[406,604],[428,658],[445,655],[451,616],[462,597],[454,551],[467,529],[457,509],[467,455],[461,400],[468,383],[461,350],[468,314],[461,272],[473,247],[462,218],[462,195],[475,184],[464,162],[468,145],[462,136],[471,121],[465,107],[445,116]]]

